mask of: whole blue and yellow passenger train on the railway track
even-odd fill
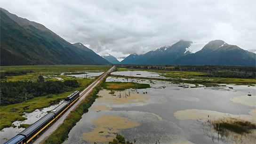
[[[4,144],[31,144],[39,137],[48,127],[58,120],[73,104],[80,98],[80,92],[75,91],[64,99],[64,102],[54,110],[47,113],[40,120],[37,120],[30,127],[8,140]]]

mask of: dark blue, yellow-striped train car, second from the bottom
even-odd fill
[[[24,129],[18,135],[26,136],[27,144],[31,143],[34,139],[37,138],[45,129],[49,127],[52,122],[55,120],[54,113],[48,113],[40,120],[37,120],[30,127]]]

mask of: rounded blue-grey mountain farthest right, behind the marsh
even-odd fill
[[[255,66],[256,54],[223,40],[213,40],[200,51],[177,58],[174,64]]]

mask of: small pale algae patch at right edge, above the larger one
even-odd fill
[[[237,96],[233,97],[231,101],[256,107],[256,96]]]

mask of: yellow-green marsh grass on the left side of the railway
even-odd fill
[[[97,71],[104,72],[111,68],[111,66],[105,65],[27,65],[27,66],[1,66],[1,72],[14,72],[14,71],[33,71],[33,73],[27,73],[25,75],[16,75],[16,76],[6,76],[6,79],[1,79],[5,81],[36,81],[39,75],[49,76],[49,78],[45,78],[45,80],[57,80],[55,78],[51,78],[51,76],[56,77],[54,75],[60,74],[62,72],[77,72],[77,71]],[[63,78],[64,80],[73,80],[74,77],[70,76],[58,76]],[[95,77],[97,78],[97,77]],[[10,104],[7,106],[0,106],[0,130],[3,128],[12,127],[12,123],[16,120],[22,121],[26,120],[23,117],[24,112],[33,112],[36,109],[41,109],[44,107],[48,107],[52,104],[56,104],[64,99],[66,96],[70,95],[74,90],[83,90],[90,83],[94,81],[94,79],[78,79],[80,87],[74,88],[72,91],[67,91],[58,95],[48,95],[48,96],[40,96],[35,97],[30,100],[24,101],[18,104]]]

